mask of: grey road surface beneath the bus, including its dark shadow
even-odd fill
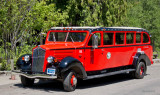
[[[132,79],[126,74],[99,79],[78,81],[74,92],[65,92],[57,81],[38,81],[33,87],[24,88],[16,76],[0,76],[0,95],[160,95],[160,64],[148,67],[144,79]],[[3,81],[10,81],[7,84]]]

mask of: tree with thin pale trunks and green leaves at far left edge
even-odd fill
[[[30,19],[28,13],[34,4],[33,0],[1,0],[0,1],[0,36],[1,54],[9,62],[16,58],[17,45],[23,46],[29,32]]]

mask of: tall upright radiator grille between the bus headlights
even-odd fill
[[[33,72],[43,72],[45,50],[40,47],[34,49],[32,58],[33,58],[32,71]]]

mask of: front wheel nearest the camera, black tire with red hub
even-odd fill
[[[72,81],[72,82],[71,82]],[[63,79],[63,87],[65,91],[74,91],[77,86],[77,76],[74,71],[67,72]]]

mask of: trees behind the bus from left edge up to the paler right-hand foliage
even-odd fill
[[[126,7],[126,0],[1,0],[1,57],[31,53],[51,27],[121,25]]]

